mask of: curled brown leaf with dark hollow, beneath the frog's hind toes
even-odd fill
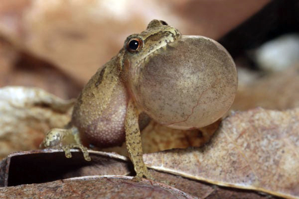
[[[15,152],[0,161],[0,187],[45,183],[72,177],[128,175],[133,165],[116,153],[89,151],[91,161],[72,149],[72,158],[62,150],[44,149]]]

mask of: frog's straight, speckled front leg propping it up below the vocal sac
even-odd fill
[[[136,171],[136,176],[134,177],[134,179],[140,181],[145,176],[147,179],[154,180],[143,161],[143,151],[138,124],[138,116],[139,111],[135,106],[134,101],[131,99],[129,100],[129,104],[127,107],[125,130],[127,150]]]

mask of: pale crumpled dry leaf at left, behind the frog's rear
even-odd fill
[[[37,88],[1,88],[0,158],[37,149],[47,130],[69,122],[73,103]]]

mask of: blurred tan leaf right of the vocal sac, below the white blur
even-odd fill
[[[299,64],[283,72],[255,77],[249,84],[240,84],[232,109],[247,110],[257,106],[279,110],[298,107]]]

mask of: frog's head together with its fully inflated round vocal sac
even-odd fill
[[[152,20],[129,36],[122,50],[126,89],[139,110],[163,125],[195,129],[222,117],[238,85],[233,59],[221,44],[203,36],[181,35]]]

